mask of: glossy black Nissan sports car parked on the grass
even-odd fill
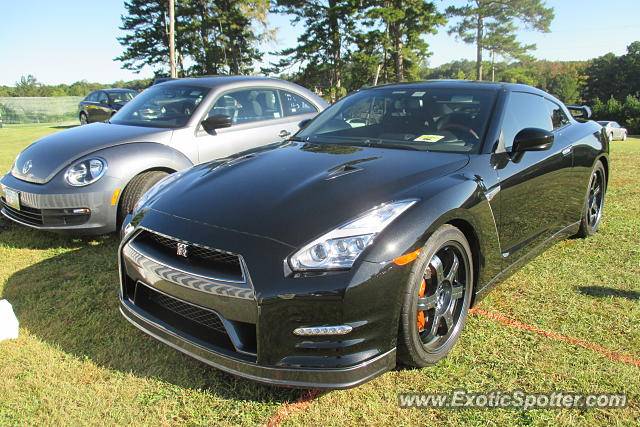
[[[120,247],[131,323],[232,374],[352,387],[438,362],[491,288],[598,229],[608,139],[535,88],[381,86],[301,125],[143,197]]]

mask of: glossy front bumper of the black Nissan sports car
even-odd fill
[[[294,277],[283,269],[293,249],[285,244],[160,212],[141,216],[121,244],[119,262],[120,311],[142,331],[223,371],[280,386],[349,388],[395,366],[398,286],[409,268],[363,261],[353,271]],[[195,274],[171,243],[163,253],[137,244],[143,233],[162,233],[154,230],[169,230],[175,242],[215,242],[241,253],[246,275],[236,279],[246,280]],[[158,297],[182,308],[167,311]],[[215,317],[224,328],[199,327],[193,313],[184,315],[185,307],[199,311],[196,317]],[[329,325],[353,329],[340,336],[293,333]]]

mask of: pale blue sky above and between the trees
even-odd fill
[[[442,10],[464,0],[434,2]],[[520,41],[537,45],[532,53],[539,59],[585,60],[608,52],[621,55],[631,42],[640,40],[640,0],[546,2],[555,9],[551,32],[519,32]],[[135,74],[114,60],[123,51],[117,37],[123,35],[118,27],[125,12],[120,0],[0,0],[0,85],[13,86],[27,74],[44,84],[152,77],[148,67]],[[300,26],[292,27],[286,16],[272,15],[270,22],[279,28],[278,39],[263,46],[264,50],[295,46]],[[433,52],[431,66],[475,59],[474,46],[449,36],[446,28],[426,40]]]

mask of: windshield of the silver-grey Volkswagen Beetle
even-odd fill
[[[179,128],[209,92],[187,85],[152,86],[133,98],[109,121],[118,125]]]

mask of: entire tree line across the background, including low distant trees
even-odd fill
[[[329,101],[363,86],[431,78],[485,79],[526,83],[566,103],[623,110],[640,96],[640,42],[624,55],[585,61],[539,61],[535,45],[521,43],[518,28],[548,32],[553,9],[543,0],[466,0],[438,7],[423,0],[177,0],[176,53],[179,76],[266,74],[294,81]],[[168,1],[127,0],[118,40],[123,68],[150,66],[156,77],[168,73]],[[268,14],[290,17],[301,27],[293,47],[268,52],[276,40]],[[476,47],[475,61],[429,67],[430,34],[447,31]],[[262,66],[259,66],[261,64]],[[150,79],[99,85],[41,85],[25,76],[0,96],[85,95],[99,87],[142,89]],[[629,104],[631,105],[631,104]],[[613,108],[613,107],[612,107]]]

